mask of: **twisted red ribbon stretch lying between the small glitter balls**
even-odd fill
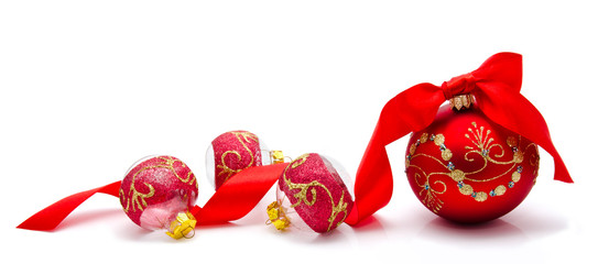
[[[286,165],[255,166],[236,174],[218,188],[204,208],[192,209],[197,224],[225,223],[244,217],[276,183]]]

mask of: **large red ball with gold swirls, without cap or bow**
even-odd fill
[[[536,144],[492,122],[476,107],[444,106],[430,127],[412,133],[405,172],[427,209],[448,220],[475,223],[520,205],[534,186],[539,160]]]

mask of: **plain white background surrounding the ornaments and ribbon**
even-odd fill
[[[598,9],[591,1],[1,1],[1,262],[592,262]],[[523,55],[522,94],[576,180],[537,184],[500,220],[428,212],[388,146],[391,204],[356,229],[276,232],[270,193],[248,217],[172,241],[97,195],[54,232],[14,227],[43,207],[170,154],[213,190],[205,150],[243,129],[290,156],[319,152],[355,174],[387,100],[442,84],[497,52]]]

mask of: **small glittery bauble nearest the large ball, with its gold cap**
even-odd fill
[[[289,226],[318,233],[336,229],[354,205],[347,178],[339,165],[319,154],[297,157],[279,178],[278,200],[268,207],[270,222],[279,230]]]

